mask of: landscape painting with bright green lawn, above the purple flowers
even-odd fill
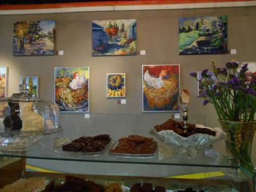
[[[181,17],[180,55],[228,53],[227,19],[227,16]]]

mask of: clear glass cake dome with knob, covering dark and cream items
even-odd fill
[[[31,94],[25,83],[20,93],[0,99],[0,132],[42,132],[59,130],[59,108],[52,101],[44,101]]]

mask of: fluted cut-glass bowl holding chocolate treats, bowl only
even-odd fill
[[[197,150],[203,150],[207,146],[225,138],[226,136],[226,134],[219,127],[210,128],[200,124],[196,124],[196,127],[201,129],[207,128],[215,131],[216,136],[198,133],[189,137],[182,137],[172,130],[157,132],[155,127],[151,129],[150,133],[156,136],[162,142],[172,146],[176,153],[185,153],[190,155],[193,155],[193,153]]]

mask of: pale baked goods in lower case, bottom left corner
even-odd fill
[[[46,179],[44,177],[33,177],[29,179],[19,179],[10,185],[6,185],[0,189],[0,192],[34,192],[41,191],[46,187]]]

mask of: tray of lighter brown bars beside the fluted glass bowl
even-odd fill
[[[157,143],[153,138],[130,135],[115,142],[110,154],[122,158],[154,158],[157,155]]]

